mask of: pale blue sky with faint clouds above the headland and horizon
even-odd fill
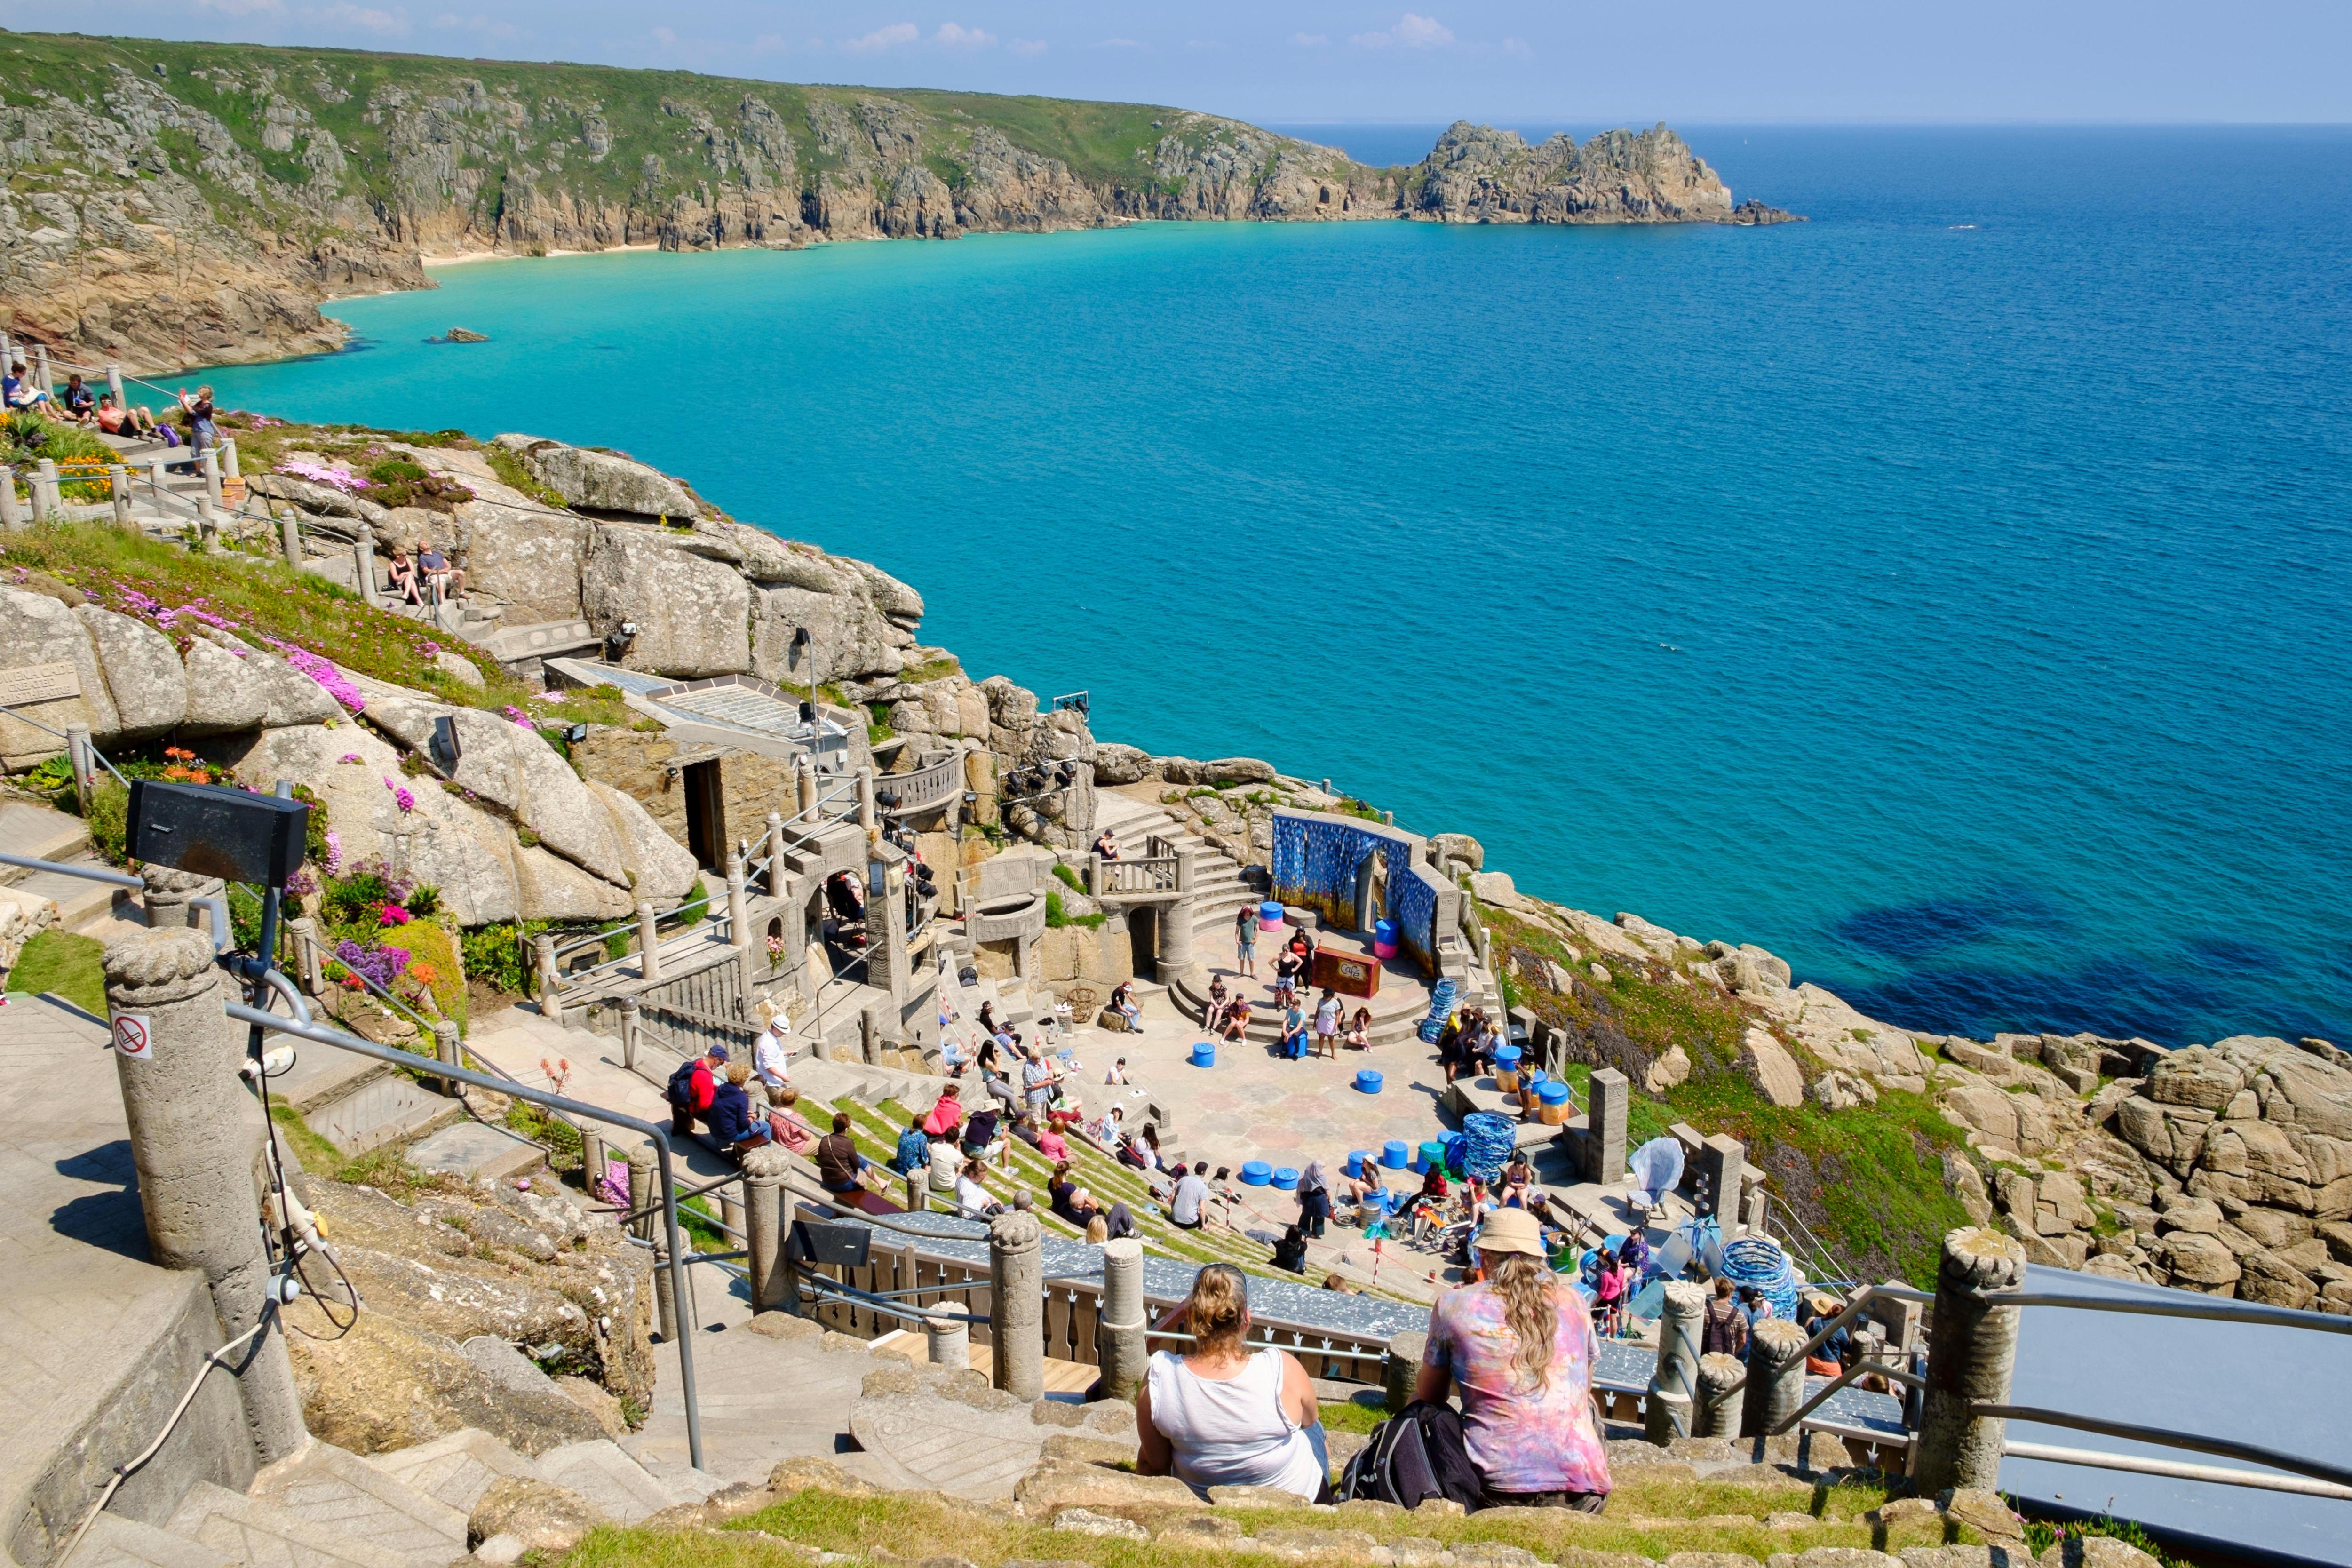
[[[2352,120],[2347,0],[0,0],[0,24],[769,80],[1138,99],[1249,120]]]

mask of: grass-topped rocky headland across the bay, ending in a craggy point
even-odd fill
[[[341,341],[421,256],[1094,228],[1129,219],[1773,221],[1665,127],[1411,169],[1143,103],[600,66],[9,35],[0,327],[169,369]],[[1769,214],[1769,216],[1766,216]]]

